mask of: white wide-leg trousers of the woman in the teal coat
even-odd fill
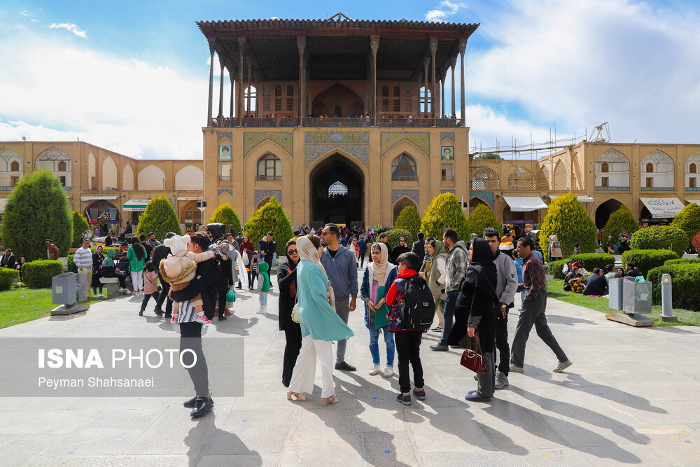
[[[333,346],[328,340],[314,340],[310,335],[302,337],[302,348],[297,356],[297,363],[292,371],[289,390],[292,392],[314,392],[314,377],[316,376],[316,356],[321,361],[321,379],[323,390],[321,397],[335,396],[333,381]]]

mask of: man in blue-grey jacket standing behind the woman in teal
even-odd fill
[[[335,224],[326,224],[321,232],[325,249],[321,256],[321,264],[328,274],[330,286],[335,293],[335,312],[347,324],[350,312],[355,311],[357,299],[357,263],[355,253],[342,246],[339,242],[340,229]],[[336,370],[355,371],[353,365],[345,361],[346,340],[338,341],[335,359]]]

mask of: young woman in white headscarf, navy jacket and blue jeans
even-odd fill
[[[384,333],[386,344],[386,367],[384,377],[393,376],[395,343],[393,333],[388,332],[386,321],[386,294],[396,279],[398,270],[388,262],[388,248],[381,242],[372,245],[372,263],[367,264],[362,278],[360,298],[365,302],[365,326],[370,331],[370,354],[372,369],[370,375],[379,375],[379,332]]]

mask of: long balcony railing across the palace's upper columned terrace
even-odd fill
[[[210,127],[238,127],[237,118],[209,118]],[[321,128],[358,128],[358,127],[399,127],[399,128],[456,128],[460,120],[456,118],[321,118],[321,117],[248,117],[241,119],[241,127],[276,128],[276,127],[321,127]]]

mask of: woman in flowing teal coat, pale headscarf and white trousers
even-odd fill
[[[353,336],[352,330],[335,312],[333,294],[328,288],[328,275],[321,265],[323,246],[316,235],[297,239],[297,300],[302,347],[289,382],[287,398],[309,400],[304,392],[314,391],[316,356],[321,362],[321,405],[338,402],[333,382],[333,349],[331,341]],[[330,303],[329,303],[330,300]]]

